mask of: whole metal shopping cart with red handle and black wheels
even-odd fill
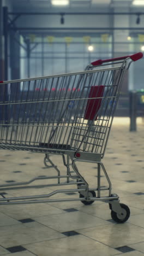
[[[116,222],[123,223],[129,218],[129,207],[119,203],[117,194],[112,194],[111,182],[101,159],[104,158],[124,74],[130,63],[142,56],[142,53],[137,53],[98,60],[83,72],[1,81],[0,148],[44,153],[45,166],[55,169],[57,175],[1,184],[0,190],[28,188],[32,182],[42,179],[57,180],[57,183],[48,184],[47,187],[76,185],[75,189],[57,189],[44,195],[3,196],[1,205],[58,201],[81,201],[91,205],[100,200],[109,203],[111,217]],[[15,94],[12,94],[14,86]],[[65,175],[53,163],[51,155],[62,156],[67,170]],[[96,188],[89,188],[86,178],[77,168],[77,162],[98,165]],[[107,187],[101,186],[101,170],[106,177]],[[38,185],[32,187],[37,188]],[[101,196],[102,191],[106,190],[107,195]],[[49,199],[58,193],[77,193],[79,197]]]

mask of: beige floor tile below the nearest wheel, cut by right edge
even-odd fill
[[[143,228],[129,223],[104,225],[99,230],[94,227],[75,231],[113,248],[144,241]]]

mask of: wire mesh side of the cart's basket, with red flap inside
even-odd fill
[[[2,84],[0,148],[102,153],[123,72],[107,69]]]

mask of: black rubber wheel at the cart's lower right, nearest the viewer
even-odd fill
[[[120,203],[121,207],[123,208],[123,213],[118,214],[116,212],[111,211],[111,218],[115,220],[117,223],[124,223],[128,220],[130,216],[130,210],[127,205],[124,205],[124,203]]]

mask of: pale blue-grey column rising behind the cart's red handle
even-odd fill
[[[115,3],[113,13],[115,12],[128,12],[128,1],[120,1]],[[113,27],[130,27],[130,16],[129,15],[113,15]],[[129,30],[113,30],[113,57],[122,57],[129,55],[129,44],[128,44]],[[123,85],[121,89],[121,95],[119,97],[116,115],[118,116],[129,116],[128,101],[129,101],[129,73],[126,72],[124,75]],[[123,107],[123,106],[127,107]]]

